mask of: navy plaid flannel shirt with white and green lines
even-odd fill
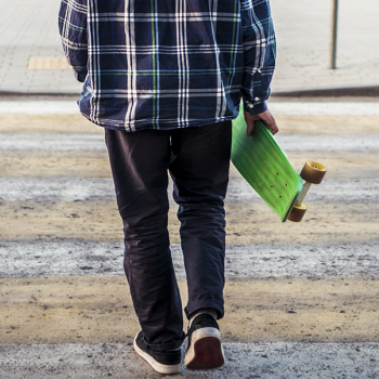
[[[127,131],[200,126],[266,109],[275,66],[269,0],[63,0],[80,112]]]

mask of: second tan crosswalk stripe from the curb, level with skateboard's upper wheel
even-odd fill
[[[297,172],[301,171],[306,160],[312,159],[327,167],[327,180],[378,178],[378,168],[373,165],[373,161],[378,159],[378,154],[375,153],[287,153]],[[106,151],[0,151],[1,177],[112,178],[112,173]],[[232,181],[239,177],[234,166],[231,165]]]

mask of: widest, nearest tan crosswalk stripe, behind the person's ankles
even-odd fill
[[[228,278],[223,340],[379,342],[378,283],[369,275]],[[2,278],[0,288],[2,343],[126,343],[140,328],[125,276]],[[185,280],[179,288],[185,305]]]

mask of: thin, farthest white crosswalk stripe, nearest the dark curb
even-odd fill
[[[379,115],[379,103],[347,102],[275,102],[269,107],[274,115]],[[1,101],[0,114],[61,114],[78,115],[75,101]]]

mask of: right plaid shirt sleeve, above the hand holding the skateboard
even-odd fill
[[[267,109],[274,74],[276,41],[269,0],[241,0],[244,40],[244,109],[252,115]]]

